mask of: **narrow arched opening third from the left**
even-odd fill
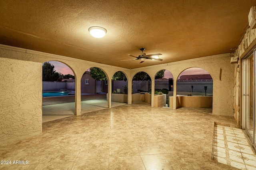
[[[126,75],[122,71],[117,71],[112,77],[111,105],[115,102],[128,103],[128,82]]]

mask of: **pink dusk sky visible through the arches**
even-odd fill
[[[56,72],[60,72],[64,75],[65,74],[74,75],[73,71],[64,63],[61,63],[59,61],[49,61],[49,63],[54,65],[54,69],[56,70]],[[179,75],[179,78],[182,75],[190,75],[190,74],[193,75],[193,74],[209,74],[209,73],[202,68],[192,67],[192,68],[188,68],[188,69],[184,70]],[[164,78],[173,78],[172,73],[170,71],[166,70],[166,72],[164,73]]]

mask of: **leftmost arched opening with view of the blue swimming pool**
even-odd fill
[[[75,113],[75,75],[59,61],[42,64],[42,122],[69,117]]]

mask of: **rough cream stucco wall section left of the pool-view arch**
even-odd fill
[[[41,133],[42,64],[0,58],[0,73],[0,143]]]

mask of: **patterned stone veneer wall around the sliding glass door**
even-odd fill
[[[242,37],[241,43],[238,45],[234,56],[239,57],[239,63],[235,64],[235,74],[234,74],[234,117],[236,122],[239,125],[242,125],[242,96],[240,90],[242,89],[242,82],[240,82],[240,78],[242,76],[242,58],[246,56],[247,53],[250,52],[256,45],[256,29],[251,29],[250,27],[246,29],[244,37]]]

